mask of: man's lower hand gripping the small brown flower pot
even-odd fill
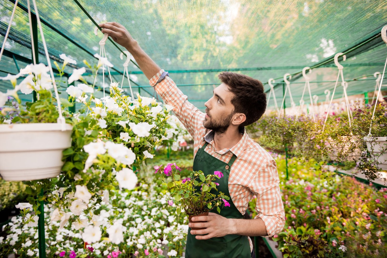
[[[196,239],[210,239],[233,234],[233,221],[216,213],[210,212],[208,216],[193,217],[192,221],[194,222],[189,223],[189,227],[207,227],[206,229],[191,230],[193,235],[208,234],[196,236]]]

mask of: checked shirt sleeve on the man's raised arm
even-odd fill
[[[203,127],[205,114],[188,102],[188,97],[176,86],[168,72],[160,70],[149,80],[149,85],[154,87],[166,104],[173,106],[175,115],[195,137],[195,132]]]

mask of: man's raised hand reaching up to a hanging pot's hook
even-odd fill
[[[102,28],[102,33],[107,33],[118,44],[131,52],[137,41],[133,39],[128,30],[117,22],[106,22],[98,24]]]

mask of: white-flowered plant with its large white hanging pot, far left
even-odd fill
[[[73,126],[51,91],[54,82],[48,72],[45,64],[29,64],[18,75],[0,78],[9,80],[14,88],[0,93],[0,173],[4,180],[38,180],[60,173],[62,151],[71,145]],[[17,78],[24,75],[17,84]],[[19,90],[24,94],[35,91],[37,101],[21,105]]]

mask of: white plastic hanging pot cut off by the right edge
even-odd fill
[[[367,143],[367,149],[373,153],[377,166],[381,170],[387,170],[387,137],[364,137]]]

